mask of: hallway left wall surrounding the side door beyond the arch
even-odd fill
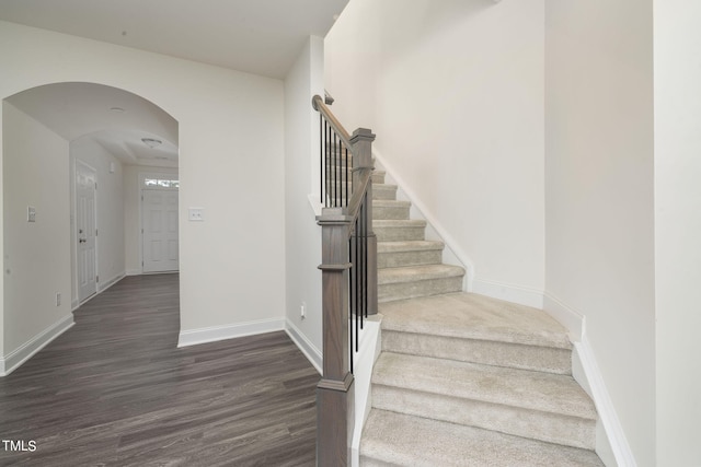
[[[90,137],[70,142],[70,219],[76,217],[74,178],[76,160],[82,161],[96,172],[96,221],[97,221],[97,290],[114,283],[125,275],[124,260],[124,177],[122,163]],[[114,172],[111,173],[111,164]],[[71,270],[76,277],[74,222],[71,222]],[[76,284],[77,287],[77,284]],[[72,304],[78,304],[78,290],[72,290]]]

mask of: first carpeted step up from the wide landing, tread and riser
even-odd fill
[[[458,292],[462,290],[463,276],[463,268],[451,265],[379,269],[378,301]]]

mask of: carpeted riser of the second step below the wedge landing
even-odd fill
[[[594,450],[596,422],[559,413],[372,385],[372,407],[493,430],[565,446]]]

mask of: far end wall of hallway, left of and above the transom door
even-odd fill
[[[143,271],[141,267],[143,244],[141,236],[140,174],[179,177],[177,168],[150,167],[145,165],[124,166],[124,243],[127,275],[140,275]]]

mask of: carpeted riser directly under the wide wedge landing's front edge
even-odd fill
[[[567,349],[382,330],[382,350],[545,373],[572,373]]]

